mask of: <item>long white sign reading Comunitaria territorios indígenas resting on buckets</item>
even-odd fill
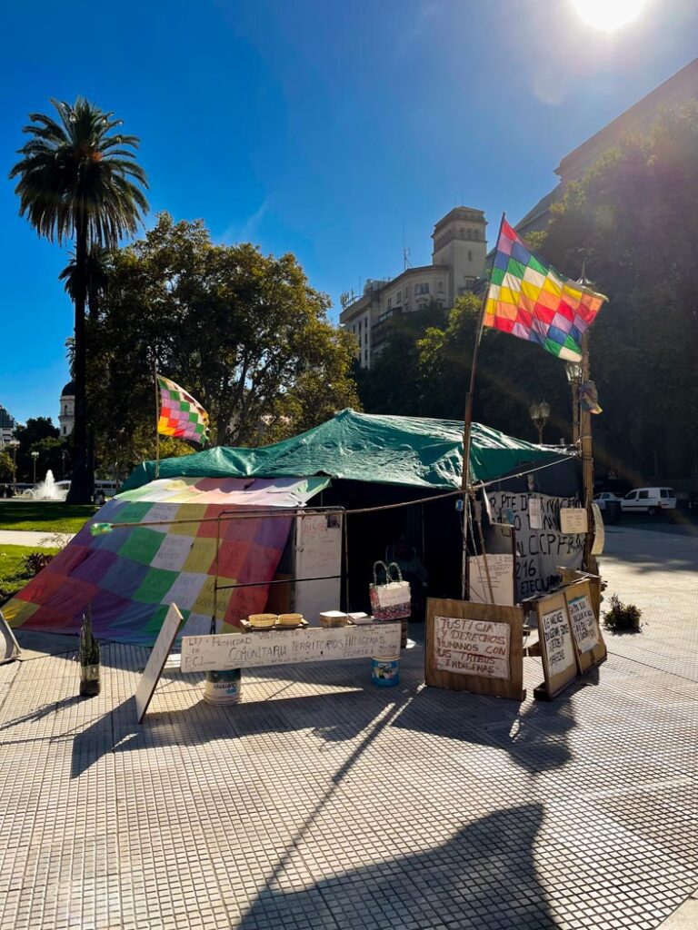
[[[400,624],[182,636],[181,671],[226,671],[347,658],[396,658]]]

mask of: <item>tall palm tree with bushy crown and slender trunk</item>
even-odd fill
[[[121,126],[83,97],[71,105],[51,100],[58,119],[30,113],[22,132],[32,138],[18,151],[20,161],[9,173],[18,178],[20,216],[26,216],[39,235],[62,245],[74,241],[71,292],[75,304],[74,460],[68,499],[86,503],[93,475],[87,468],[87,340],[85,303],[88,255],[91,246],[115,248],[122,236],[137,231],[148,204],[145,172],[135,161],[135,136],[110,135]],[[140,186],[139,186],[140,185]]]

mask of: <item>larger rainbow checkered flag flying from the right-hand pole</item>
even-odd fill
[[[568,362],[582,359],[582,334],[606,300],[537,259],[502,220],[484,326],[536,342]]]

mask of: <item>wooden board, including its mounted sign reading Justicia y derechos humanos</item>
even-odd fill
[[[426,684],[523,700],[523,610],[427,600]]]

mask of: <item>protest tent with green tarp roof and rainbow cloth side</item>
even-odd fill
[[[341,575],[344,566],[346,585],[340,588],[337,579],[315,589],[312,603],[334,597],[326,606],[339,606],[342,595],[345,607],[366,609],[373,561],[383,558],[402,533],[415,541],[434,591],[455,596],[463,531],[452,492],[460,489],[462,459],[458,421],[342,410],[274,445],[218,446],[165,459],[156,479],[155,463],[143,462],[92,521],[111,523],[114,531],[92,536],[86,526],[4,607],[6,617],[23,629],[73,633],[90,604],[98,636],[152,644],[171,603],[181,608],[187,633],[208,632],[216,578],[228,585],[219,591],[217,616],[235,624],[264,609],[275,575]],[[559,449],[473,424],[470,468],[476,482],[506,487],[507,481],[520,480],[512,475],[539,468],[539,489],[548,482],[573,494],[579,486],[576,466]],[[350,514],[345,540],[329,517],[325,523],[324,518],[294,520],[289,509],[311,500]],[[387,509],[415,500],[422,502]],[[217,566],[216,517],[223,510],[249,508],[280,508],[284,517],[221,521]],[[159,525],[142,525],[154,523]],[[120,529],[119,524],[141,525]],[[251,582],[254,587],[234,587]],[[309,585],[299,589],[311,590]],[[300,603],[302,598],[295,605]]]

